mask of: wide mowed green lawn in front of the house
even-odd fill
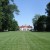
[[[50,50],[50,32],[0,32],[0,50]]]

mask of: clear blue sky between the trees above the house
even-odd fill
[[[19,15],[14,13],[18,25],[33,26],[32,19],[36,14],[45,14],[45,8],[48,2],[50,2],[50,0],[14,0],[14,3],[18,6],[20,11]]]

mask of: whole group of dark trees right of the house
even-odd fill
[[[50,2],[46,5],[47,15],[35,15],[32,19],[34,31],[50,31]]]

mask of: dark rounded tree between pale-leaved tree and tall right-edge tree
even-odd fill
[[[42,15],[37,20],[37,31],[45,31],[46,30],[46,16]]]

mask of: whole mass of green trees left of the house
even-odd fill
[[[15,31],[19,29],[13,13],[19,14],[14,0],[0,0],[0,31]]]

